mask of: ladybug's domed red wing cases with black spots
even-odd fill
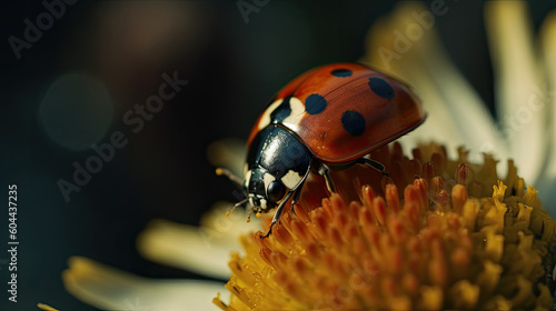
[[[285,99],[289,116],[276,113]],[[248,147],[261,129],[277,123],[320,162],[336,164],[396,140],[425,118],[420,100],[406,83],[364,64],[334,63],[309,70],[278,91],[255,123]]]

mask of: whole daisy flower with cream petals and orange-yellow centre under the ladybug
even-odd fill
[[[295,213],[285,212],[264,240],[269,219],[246,227],[241,213],[225,218],[229,205],[201,227],[156,221],[139,237],[147,258],[229,279],[226,289],[148,280],[79,257],[63,273],[67,289],[118,310],[553,309],[555,222],[544,207],[556,212],[556,163],[547,157],[556,139],[556,17],[543,23],[537,50],[525,2],[486,4],[496,122],[443,51],[434,21],[396,50],[394,34],[415,31],[416,16],[427,12],[398,6],[371,28],[361,59],[415,87],[429,113],[401,144],[373,152],[390,180],[351,168],[332,175],[345,190],[334,195],[308,182]],[[430,140],[444,144],[423,143]],[[244,160],[242,148],[215,148],[210,154],[229,156],[219,157],[230,161],[225,167]],[[508,158],[497,172],[495,159]]]

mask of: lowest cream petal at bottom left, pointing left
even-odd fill
[[[193,280],[149,280],[90,259],[73,257],[63,271],[66,289],[101,310],[219,310],[211,303],[222,283]]]

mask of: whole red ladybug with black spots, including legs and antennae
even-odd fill
[[[236,181],[260,217],[277,207],[267,238],[290,199],[298,202],[307,177],[355,164],[385,167],[364,158],[420,126],[426,118],[410,87],[359,63],[334,63],[309,70],[282,88],[249,134],[244,179]],[[234,210],[232,208],[232,210]],[[230,210],[231,212],[231,210]],[[249,214],[250,215],[250,214]]]

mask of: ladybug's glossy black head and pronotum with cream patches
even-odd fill
[[[255,212],[267,212],[307,178],[310,156],[287,129],[269,126],[252,140],[244,189]]]

